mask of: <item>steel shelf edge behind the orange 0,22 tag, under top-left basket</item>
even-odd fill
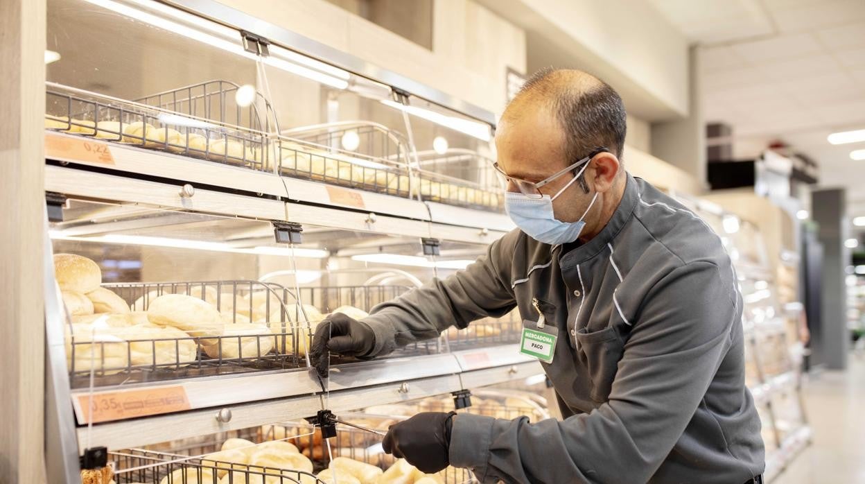
[[[265,171],[255,171],[240,166],[225,165],[215,161],[189,158],[173,153],[122,145],[100,139],[84,138],[80,135],[65,134],[62,132],[46,131],[45,136],[78,141],[85,140],[91,143],[103,144],[108,146],[113,158],[111,164],[105,164],[88,162],[80,158],[67,158],[63,156],[46,157],[57,161],[111,168],[112,170],[128,171],[152,177],[183,180],[184,183],[208,184],[277,197],[287,197],[288,195],[285,192],[285,184],[282,183],[282,179],[276,174]]]

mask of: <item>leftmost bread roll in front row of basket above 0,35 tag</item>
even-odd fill
[[[72,326],[71,330],[70,327]],[[70,371],[104,371],[106,375],[129,365],[126,342],[106,332],[107,326],[72,324],[63,326],[66,363]]]

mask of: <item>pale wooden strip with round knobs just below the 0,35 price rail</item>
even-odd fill
[[[325,404],[329,410],[338,415],[339,412],[356,410],[369,405],[400,403],[460,389],[458,376],[446,375],[413,379],[408,381],[407,385],[394,383],[333,391],[325,398]],[[89,430],[89,436],[88,429],[83,427],[78,430],[78,441],[83,445],[89,438],[90,442],[99,442],[99,445],[105,445],[109,449],[129,449],[227,430],[248,429],[267,423],[297,420],[314,416],[323,407],[322,401],[316,395],[244,403],[226,408],[232,412],[232,418],[227,423],[220,423],[216,419],[215,409],[193,410],[180,414],[93,425],[93,429]]]

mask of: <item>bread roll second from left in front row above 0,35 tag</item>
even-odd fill
[[[172,326],[129,326],[111,333],[129,341],[132,365],[185,366],[198,356],[195,340]]]

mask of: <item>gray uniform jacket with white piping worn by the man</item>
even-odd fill
[[[740,484],[763,472],[745,386],[742,298],[720,238],[628,175],[606,228],[573,248],[519,230],[464,271],[375,307],[374,355],[518,307],[559,327],[564,421],[460,414],[450,459],[482,482]]]

